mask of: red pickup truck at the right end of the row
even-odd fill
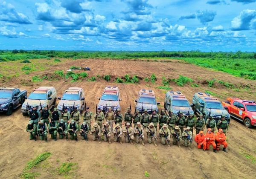
[[[221,102],[227,112],[233,117],[242,121],[246,127],[256,126],[256,103],[239,98],[227,98]]]

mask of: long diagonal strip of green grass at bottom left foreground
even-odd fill
[[[38,155],[35,159],[30,160],[26,164],[26,167],[23,169],[20,177],[28,179],[28,178],[35,178],[35,176],[39,176],[40,173],[29,173],[29,170],[32,169],[33,167],[37,166],[44,160],[46,160],[51,155],[52,155],[51,153],[46,152],[46,153],[42,153],[42,154]]]

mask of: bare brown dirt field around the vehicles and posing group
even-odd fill
[[[41,60],[41,63],[47,63],[47,60]],[[65,71],[73,65],[89,66],[91,68],[91,71],[88,72],[89,77],[111,74],[112,78],[115,78],[116,76],[130,74],[144,78],[150,77],[152,73],[155,73],[158,80],[156,84],[145,83],[145,81],[141,81],[140,84],[116,84],[103,80],[88,82],[85,79],[73,83],[64,81],[64,79],[39,83],[29,82],[32,76],[53,74],[57,69]],[[124,113],[130,101],[134,110],[134,99],[137,96],[137,92],[142,88],[154,90],[157,95],[157,101],[161,103],[159,107],[160,109],[163,108],[166,90],[160,90],[155,87],[163,86],[161,84],[162,76],[178,78],[179,75],[192,78],[196,84],[200,85],[200,87],[191,87],[191,85],[186,84],[184,87],[178,87],[175,83],[171,83],[170,87],[175,91],[180,90],[183,92],[190,102],[195,92],[204,92],[205,90],[219,94],[221,100],[228,96],[256,99],[256,81],[237,78],[223,72],[185,64],[177,60],[172,60],[170,63],[133,60],[70,60],[56,64],[47,71],[20,75],[9,82],[3,82],[0,86],[15,86],[26,89],[28,93],[35,87],[54,86],[58,96],[61,96],[68,87],[83,87],[87,106],[90,106],[91,111],[94,113],[95,105],[98,103],[97,97],[102,94],[104,87],[116,85],[121,92],[123,100],[121,101],[121,107],[122,113]],[[240,90],[236,92],[222,85],[210,88],[205,84],[205,81],[212,78],[230,82]],[[250,88],[249,90],[244,90],[244,87]],[[160,139],[157,141],[157,147],[154,147],[153,144],[148,144],[146,141],[145,146],[138,144],[108,144],[105,142],[99,144],[97,141],[92,141],[91,136],[89,136],[88,143],[82,140],[76,142],[71,140],[53,141],[51,139],[49,139],[48,143],[40,140],[35,142],[29,140],[29,134],[25,132],[28,120],[28,117],[22,116],[20,108],[15,110],[11,116],[0,114],[1,179],[19,178],[26,163],[36,155],[46,151],[52,153],[52,156],[47,160],[48,165],[32,170],[41,173],[39,178],[62,178],[62,176],[52,174],[52,171],[55,170],[54,168],[59,167],[62,162],[67,161],[78,163],[79,168],[76,171],[78,178],[145,178],[145,171],[149,173],[150,178],[253,179],[256,176],[256,129],[248,129],[234,119],[231,121],[230,130],[227,133],[229,152],[218,151],[218,154],[213,153],[212,149],[206,152],[198,150],[195,142],[192,144],[192,151],[184,146],[181,149],[174,145],[166,147],[160,144]],[[49,134],[48,138],[50,138]]]

